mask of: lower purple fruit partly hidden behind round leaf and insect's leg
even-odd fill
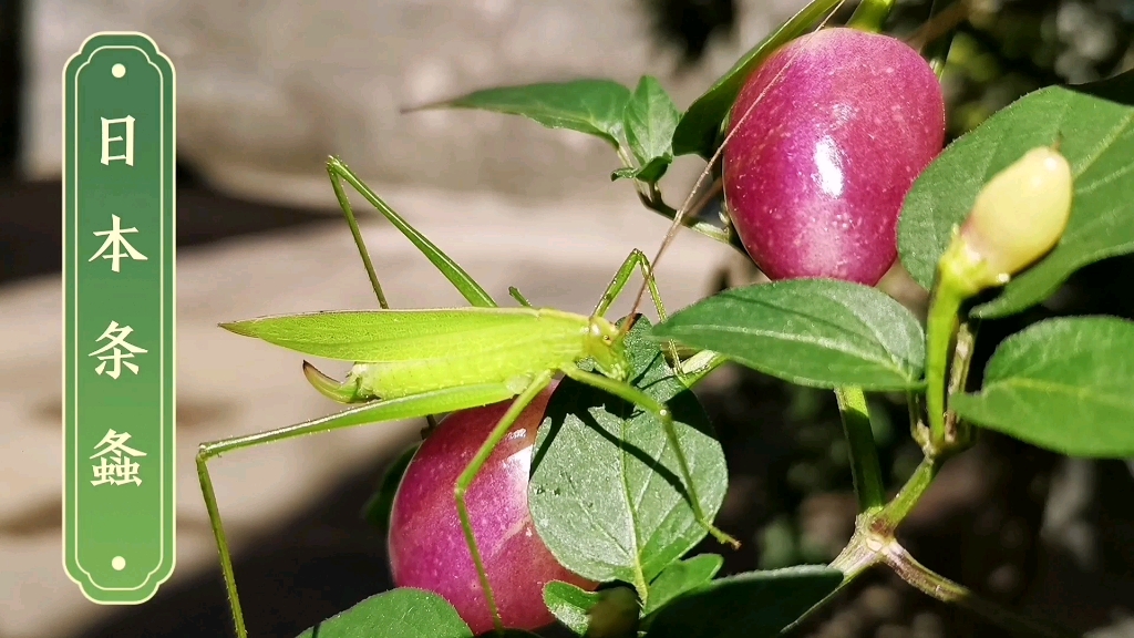
[[[596,587],[556,561],[527,510],[535,431],[552,389],[521,414],[466,494],[500,618],[513,629],[534,630],[555,620],[543,603],[549,581]],[[492,629],[492,613],[460,529],[454,486],[510,404],[455,412],[442,420],[406,468],[390,515],[395,584],[440,595],[475,633]]]

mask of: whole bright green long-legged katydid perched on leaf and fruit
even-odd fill
[[[641,251],[635,250],[623,262],[591,316],[532,308],[515,288],[511,294],[522,307],[499,308],[472,277],[390,209],[346,165],[331,158],[327,170],[382,309],[266,317],[222,325],[234,333],[257,337],[312,356],[355,362],[347,379],[341,383],[327,377],[307,362],[304,362],[304,373],[316,389],[330,398],[340,403],[361,403],[329,417],[201,445],[196,456],[197,475],[217,539],[239,638],[246,638],[247,630],[206,467],[210,459],[235,450],[308,434],[381,421],[429,418],[513,398],[511,406],[455,486],[462,528],[488,605],[497,628],[501,629],[464,496],[492,450],[528,403],[548,387],[556,373],[562,373],[652,412],[661,421],[676,452],[685,496],[697,522],[721,543],[738,545],[730,536],[713,527],[702,512],[688,463],[677,444],[669,409],[626,381],[628,364],[623,338],[631,320],[619,329],[603,317],[634,270],[641,269],[645,278],[642,293],[649,289],[660,318],[665,320],[666,311],[652,278],[652,268]],[[445,274],[472,308],[390,310],[344,191],[344,181],[409,238]],[[636,314],[632,313],[631,317],[634,316]],[[577,363],[583,360],[594,362],[598,372],[581,369]],[[701,375],[720,363],[720,360],[712,353],[703,353],[685,363],[686,373]]]

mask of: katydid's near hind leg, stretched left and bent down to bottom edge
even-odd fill
[[[237,638],[247,638],[248,632],[244,626],[244,613],[240,610],[240,598],[236,591],[236,578],[232,573],[232,559],[228,549],[228,538],[225,536],[225,528],[221,523],[220,511],[217,507],[217,495],[213,492],[212,479],[209,476],[208,462],[210,459],[220,456],[226,452],[242,450],[245,447],[255,447],[278,440],[295,438],[297,436],[381,421],[414,419],[426,414],[452,412],[455,410],[488,405],[490,403],[503,401],[511,396],[515,396],[515,393],[508,389],[508,387],[503,384],[483,384],[447,388],[414,396],[406,396],[403,398],[366,403],[337,414],[331,414],[330,417],[322,417],[294,426],[201,444],[201,447],[197,450],[196,457],[197,478],[201,481],[201,494],[205,501],[205,510],[209,512],[209,524],[212,527],[213,537],[217,540],[217,551],[220,554],[221,571],[225,577],[225,588],[228,591],[228,601],[232,610],[232,622],[236,624]]]

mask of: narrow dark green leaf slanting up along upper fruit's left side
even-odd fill
[[[717,150],[717,134],[728,117],[744,82],[773,51],[811,31],[843,0],[814,0],[790,20],[748,50],[733,68],[696,99],[674,132],[674,154],[700,154],[709,159]]]

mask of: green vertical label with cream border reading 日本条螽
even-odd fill
[[[64,70],[64,566],[101,604],[176,557],[174,82],[141,33]]]

